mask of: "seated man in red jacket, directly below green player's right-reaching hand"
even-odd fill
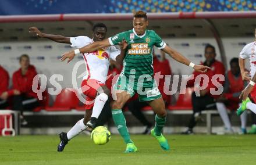
[[[205,56],[205,62],[203,63],[206,66],[211,67],[211,69],[208,69],[206,73],[200,73],[198,71],[194,71],[194,78],[193,80],[187,81],[187,87],[194,87],[195,85],[195,78],[200,74],[205,74],[209,78],[209,84],[207,88],[202,89],[200,91],[200,96],[196,96],[195,92],[192,93],[192,105],[193,105],[193,114],[190,118],[188,128],[185,132],[182,132],[182,134],[193,134],[193,128],[195,127],[197,120],[200,119],[200,114],[202,110],[207,109],[213,109],[216,107],[215,99],[218,98],[220,95],[212,95],[210,93],[210,88],[215,88],[215,91],[217,90],[215,85],[212,83],[212,77],[215,74],[222,74],[225,75],[225,68],[221,62],[215,59],[216,52],[215,47],[208,44],[205,46],[204,49],[204,56]],[[224,81],[218,81],[220,84],[224,84]],[[202,85],[202,79],[200,86]]]

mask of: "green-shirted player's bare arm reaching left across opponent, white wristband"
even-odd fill
[[[75,49],[74,51],[64,53],[61,57],[61,61],[63,62],[64,60],[69,59],[67,60],[67,63],[69,63],[71,60],[73,60],[74,56],[77,54],[94,52],[94,51],[97,51],[98,49],[105,48],[108,46],[111,46],[108,39],[105,39],[103,41],[96,41],[96,42],[93,42],[92,44],[84,46],[83,48]]]

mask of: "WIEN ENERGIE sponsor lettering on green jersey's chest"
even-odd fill
[[[131,44],[131,49],[128,49],[130,55],[148,55],[151,53],[151,49],[148,48],[148,44]]]

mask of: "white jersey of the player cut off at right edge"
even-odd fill
[[[250,59],[250,67],[251,67],[250,74],[251,74],[251,77],[253,77],[255,72],[256,72],[255,46],[256,46],[256,42],[255,41],[251,42],[250,44],[247,44],[246,46],[244,46],[244,48],[240,52],[240,58],[241,59],[246,59],[246,58]]]

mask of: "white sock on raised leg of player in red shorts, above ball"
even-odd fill
[[[91,117],[96,117],[98,119],[99,114],[101,114],[101,111],[108,100],[108,95],[105,93],[99,94],[94,102],[93,106],[93,114],[91,114]]]

